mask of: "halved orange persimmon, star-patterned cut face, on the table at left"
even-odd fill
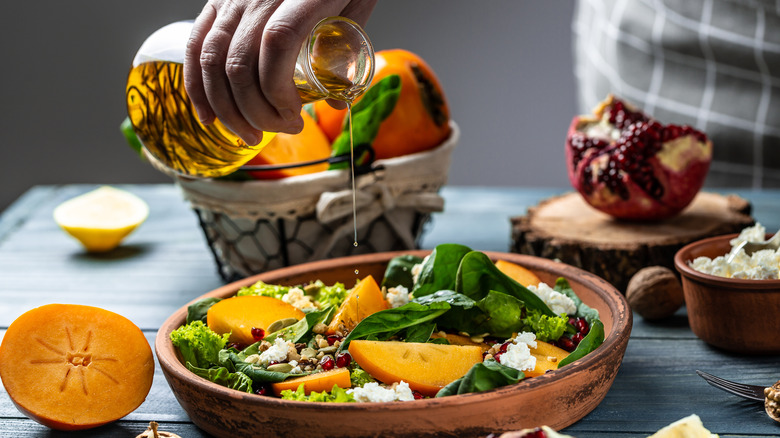
[[[0,378],[16,407],[60,430],[97,427],[143,403],[154,358],[130,320],[91,306],[49,304],[24,313],[0,344]]]

